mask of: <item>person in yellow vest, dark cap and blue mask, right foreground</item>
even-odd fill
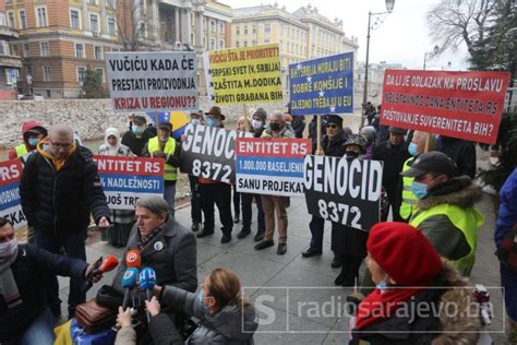
[[[420,228],[436,251],[468,276],[476,260],[478,227],[484,222],[474,209],[481,188],[470,177],[456,175],[453,159],[437,151],[420,155],[402,172],[414,178],[411,189],[419,199],[409,224]]]

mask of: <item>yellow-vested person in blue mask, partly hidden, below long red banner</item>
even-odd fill
[[[422,132],[422,131],[414,131],[411,142],[408,146],[408,152],[411,155],[402,165],[402,172],[407,171],[411,164],[417,159],[419,155],[425,153],[425,142],[428,141],[429,136],[429,144],[428,144],[428,152],[434,151],[436,146],[436,136],[433,134]],[[400,203],[400,218],[408,223],[411,214],[414,210],[414,204],[418,201],[417,195],[411,190],[411,183],[413,182],[412,177],[402,177],[402,182],[400,183],[401,187],[401,203]]]

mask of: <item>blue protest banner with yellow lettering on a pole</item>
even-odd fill
[[[291,115],[353,112],[353,52],[289,64]]]

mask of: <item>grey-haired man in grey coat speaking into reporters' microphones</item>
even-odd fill
[[[161,197],[140,199],[135,207],[136,223],[131,229],[127,250],[137,249],[141,266],[156,272],[158,285],[171,285],[191,293],[197,287],[195,236],[169,213]],[[122,288],[125,254],[113,279],[113,287]]]

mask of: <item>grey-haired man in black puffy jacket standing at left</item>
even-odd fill
[[[20,182],[23,213],[34,226],[36,245],[53,253],[64,248],[68,257],[84,261],[91,214],[100,228],[109,226],[109,209],[92,152],[76,144],[73,129],[62,123],[49,129],[36,151],[28,157]],[[84,284],[81,278],[70,279],[70,318],[86,299]],[[46,288],[49,307],[60,317],[55,275],[47,277]]]

